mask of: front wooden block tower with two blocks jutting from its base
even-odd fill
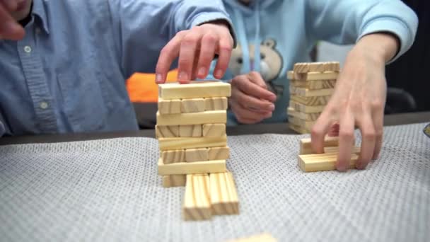
[[[165,83],[158,90],[158,174],[166,188],[185,186],[184,219],[238,214],[233,175],[226,169],[230,84]]]

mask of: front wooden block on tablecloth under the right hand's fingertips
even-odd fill
[[[359,159],[356,154],[351,154],[349,168],[355,168]],[[298,166],[304,172],[333,171],[336,170],[337,152],[323,154],[304,154],[298,156]]]

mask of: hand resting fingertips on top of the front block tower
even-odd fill
[[[232,50],[233,37],[228,24],[224,21],[204,23],[190,30],[181,31],[161,50],[156,67],[156,83],[165,82],[170,65],[178,56],[180,83],[188,83],[196,77],[204,79],[215,54],[219,57],[214,76],[221,79],[228,67]]]

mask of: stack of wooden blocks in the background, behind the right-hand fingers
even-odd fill
[[[296,63],[288,72],[291,129],[301,134],[310,132],[332,96],[338,74],[339,62]]]

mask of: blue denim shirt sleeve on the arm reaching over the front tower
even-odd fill
[[[109,1],[126,78],[136,71],[153,73],[161,49],[181,30],[216,20],[232,26],[221,0]]]

